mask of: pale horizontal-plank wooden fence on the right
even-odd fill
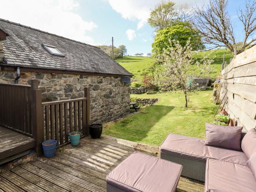
[[[222,72],[220,98],[238,126],[256,126],[256,46],[234,57]],[[225,96],[225,93],[227,94]]]

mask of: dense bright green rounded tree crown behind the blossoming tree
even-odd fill
[[[189,42],[192,50],[200,50],[204,48],[204,45],[201,42],[201,37],[191,28],[188,22],[177,22],[177,24],[172,27],[160,30],[152,44],[153,56],[162,54],[163,50],[174,47],[174,41],[178,41],[181,46],[185,46],[189,38],[191,39]]]

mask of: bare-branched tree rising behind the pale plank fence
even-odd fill
[[[235,55],[255,45],[256,38],[251,39],[249,42],[247,39],[256,30],[256,1],[246,1],[245,10],[237,10],[238,18],[244,26],[244,38],[239,45],[227,12],[227,5],[227,0],[211,0],[210,4],[203,5],[202,8],[197,7],[193,23],[199,34],[203,36],[203,42],[213,45],[211,49],[226,46]]]

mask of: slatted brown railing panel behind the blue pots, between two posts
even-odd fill
[[[85,88],[88,95],[89,88]],[[69,143],[68,133],[81,132],[88,135],[90,124],[90,98],[70,99],[42,103],[44,112],[44,139],[57,140],[57,146]],[[88,109],[89,108],[89,109]],[[89,111],[89,113],[88,113]]]

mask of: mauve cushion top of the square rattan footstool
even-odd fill
[[[106,178],[108,184],[127,192],[174,192],[182,166],[135,152]]]

